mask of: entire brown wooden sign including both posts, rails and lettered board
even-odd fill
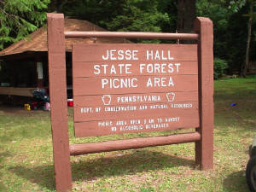
[[[55,187],[72,189],[70,155],[195,143],[195,162],[213,167],[212,21],[196,33],[64,32],[64,16],[48,14],[49,96]],[[66,38],[166,38],[195,44],[73,44],[76,137],[195,127],[195,132],[102,143],[69,144]]]

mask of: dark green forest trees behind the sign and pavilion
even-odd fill
[[[44,26],[47,12],[118,32],[193,32],[204,16],[214,26],[214,78],[246,77],[256,60],[255,7],[255,0],[0,0],[0,50]]]

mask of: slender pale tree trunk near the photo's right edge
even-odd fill
[[[253,18],[251,14],[253,13],[253,1],[250,3],[250,11],[249,11],[249,20],[248,20],[248,32],[247,32],[247,50],[246,50],[246,58],[244,66],[242,67],[242,76],[245,78],[247,76],[247,68],[249,63],[249,51],[250,51],[250,43],[251,43],[251,33],[252,33],[252,21]]]

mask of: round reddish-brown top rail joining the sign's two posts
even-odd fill
[[[197,33],[168,33],[168,32],[64,32],[66,38],[158,38],[197,40]]]

